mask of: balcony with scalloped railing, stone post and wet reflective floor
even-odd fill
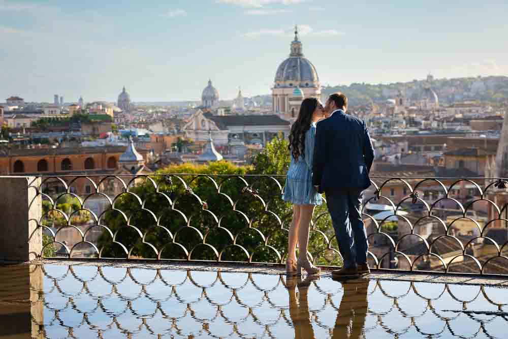
[[[0,181],[0,336],[504,337],[505,180],[372,178],[373,272],[340,282],[326,205],[323,273],[283,274],[283,176]]]

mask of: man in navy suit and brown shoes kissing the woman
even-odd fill
[[[367,232],[362,220],[363,191],[370,186],[374,149],[365,121],[346,114],[347,98],[332,94],[326,102],[329,117],[317,122],[312,184],[326,194],[339,251],[344,260],[334,276],[370,273]]]

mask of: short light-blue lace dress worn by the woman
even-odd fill
[[[305,134],[305,155],[295,161],[291,156],[282,199],[295,205],[321,205],[323,197],[312,186],[312,158],[316,125],[314,122]]]

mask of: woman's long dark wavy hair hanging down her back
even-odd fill
[[[289,150],[292,157],[298,160],[300,156],[305,157],[305,134],[310,129],[312,113],[317,107],[316,98],[306,98],[302,101],[298,118],[291,127],[289,134]]]

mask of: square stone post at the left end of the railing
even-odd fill
[[[42,229],[34,232],[42,215],[40,183],[36,177],[0,177],[0,260],[27,261],[41,254]]]

